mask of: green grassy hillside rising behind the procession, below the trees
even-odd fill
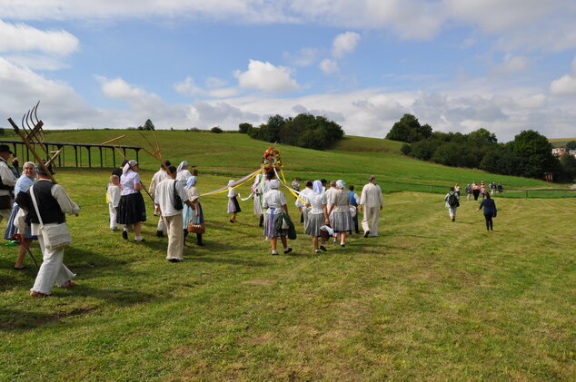
[[[154,141],[152,132],[119,131],[119,130],[77,130],[48,131],[47,142],[83,142],[102,143],[120,135],[125,137],[117,144],[138,145],[153,151],[150,142]],[[212,133],[185,131],[157,131],[164,159],[174,164],[181,161],[190,162],[201,173],[214,173],[239,177],[256,170],[260,165],[262,154],[270,143],[257,141],[240,133]],[[6,136],[6,139],[11,139]],[[12,139],[15,139],[12,138]],[[154,143],[155,144],[155,143]],[[472,181],[502,181],[507,189],[516,188],[550,188],[551,184],[534,179],[490,174],[485,171],[442,166],[432,162],[422,162],[400,153],[402,142],[393,142],[377,138],[346,136],[330,151],[314,151],[299,147],[277,145],[281,151],[284,171],[287,177],[298,176],[304,180],[318,178],[343,178],[344,181],[362,184],[367,175],[375,174],[380,181],[425,184],[426,187],[390,185],[386,191],[445,191],[445,187],[459,182],[462,186]],[[104,150],[104,166],[112,167],[113,158],[110,150]],[[128,155],[134,157],[133,152]],[[79,151],[80,161],[88,166],[86,149]],[[74,150],[65,148],[63,154],[66,166],[74,166]],[[141,151],[139,155],[141,168],[144,171],[155,171],[157,161]],[[99,166],[98,150],[92,149],[92,163]],[[119,154],[116,153],[116,162]],[[116,163],[118,164],[118,163]],[[435,188],[434,186],[442,186]]]

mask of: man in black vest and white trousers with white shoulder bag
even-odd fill
[[[44,168],[36,166],[38,181],[28,189],[27,193],[31,198],[35,198],[40,217],[36,213],[35,207],[28,211],[31,233],[38,237],[40,250],[42,250],[43,262],[38,270],[34,287],[30,289],[30,296],[49,296],[54,283],[60,288],[70,288],[75,285],[72,280],[76,275],[64,265],[64,249],[60,247],[49,249],[45,246],[43,230],[47,226],[55,226],[65,222],[65,213],[77,215],[80,207],[66,193],[61,185],[50,180]],[[51,169],[48,168],[50,171]],[[30,204],[33,204],[30,202]],[[40,218],[40,219],[39,219]],[[42,225],[40,223],[42,221]]]

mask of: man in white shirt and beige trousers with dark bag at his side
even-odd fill
[[[182,187],[180,181],[176,181],[176,168],[168,167],[166,174],[168,178],[161,181],[154,193],[154,203],[158,205],[166,232],[168,234],[168,249],[166,259],[170,262],[180,262],[183,260],[184,252],[184,227],[182,220],[182,203],[192,207],[188,200],[188,193]],[[176,201],[176,195],[181,201]],[[177,205],[177,204],[179,205]]]

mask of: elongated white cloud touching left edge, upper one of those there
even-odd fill
[[[0,20],[0,52],[40,51],[65,55],[77,48],[78,39],[64,30],[41,31],[26,24]]]

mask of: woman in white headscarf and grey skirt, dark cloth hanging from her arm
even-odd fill
[[[280,181],[268,182],[269,190],[263,194],[263,209],[266,210],[266,217],[264,222],[264,236],[270,239],[272,245],[272,254],[277,255],[276,244],[278,238],[282,241],[284,253],[292,252],[292,248],[288,247],[286,235],[288,230],[276,230],[276,218],[280,216],[282,211],[288,213],[288,206],[286,205],[286,198],[282,191],[278,190]]]

